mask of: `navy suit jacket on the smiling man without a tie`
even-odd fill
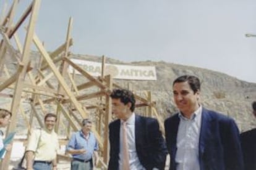
[[[179,121],[178,114],[164,121],[166,145],[171,157],[170,170],[176,169]],[[239,131],[234,120],[227,116],[203,108],[198,147],[200,170],[244,169]]]

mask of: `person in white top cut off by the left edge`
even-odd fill
[[[0,108],[0,127],[6,127],[11,122],[12,113],[9,110]],[[4,145],[2,141],[3,132],[0,131],[0,150],[5,148],[7,151],[11,150],[12,145]]]

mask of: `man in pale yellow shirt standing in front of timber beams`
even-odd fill
[[[58,135],[54,132],[57,116],[45,115],[45,128],[32,131],[27,146],[27,170],[57,169]]]

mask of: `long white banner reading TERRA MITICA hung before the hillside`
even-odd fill
[[[71,60],[90,75],[101,76],[101,63],[79,59]],[[78,72],[76,71],[75,73]],[[106,63],[105,75],[112,75],[115,79],[156,80],[156,68],[151,66],[114,65]]]

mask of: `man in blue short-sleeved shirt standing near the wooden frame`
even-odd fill
[[[92,121],[90,119],[82,120],[82,129],[75,132],[70,137],[67,144],[67,153],[72,155],[71,170],[92,170],[93,155],[95,156],[95,164],[98,164],[98,142],[94,136],[92,129]]]

